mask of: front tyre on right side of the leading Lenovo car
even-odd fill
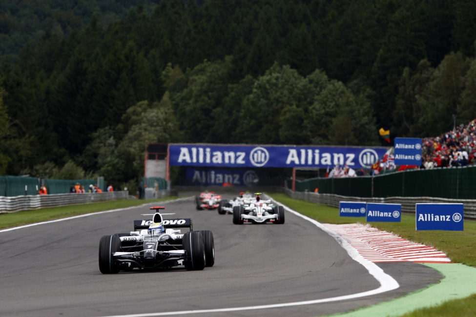
[[[199,271],[205,268],[205,245],[200,231],[189,231],[182,238],[186,252],[184,266],[187,271]]]

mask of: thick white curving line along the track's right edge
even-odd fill
[[[271,198],[271,200],[277,204],[278,202]],[[281,204],[281,203],[280,203]],[[283,205],[284,206],[284,205]],[[357,250],[355,250],[347,241],[341,238],[338,234],[327,229],[323,224],[320,222],[309,218],[307,216],[301,215],[297,211],[290,209],[287,206],[284,208],[305,220],[310,221],[314,225],[316,225],[321,230],[327,232],[332,238],[337,240],[337,242],[347,251],[349,256],[354,259],[355,261],[362,264],[369,273],[375,277],[375,279],[380,283],[380,287],[367,291],[361,292],[351,295],[345,296],[338,296],[338,297],[329,297],[329,298],[322,298],[322,299],[314,299],[314,300],[306,300],[306,301],[296,301],[290,303],[282,303],[282,304],[269,304],[269,305],[258,305],[258,306],[244,306],[244,307],[231,307],[231,308],[219,308],[219,309],[201,309],[201,310],[184,310],[184,311],[176,311],[176,312],[162,312],[162,313],[147,313],[147,314],[131,314],[131,315],[114,315],[108,317],[150,317],[150,316],[170,316],[170,315],[185,315],[185,314],[211,314],[211,313],[228,313],[228,312],[237,312],[237,311],[245,311],[245,310],[257,310],[257,309],[270,309],[270,308],[280,308],[280,307],[290,307],[290,306],[301,306],[301,305],[311,305],[311,304],[320,304],[320,303],[327,303],[339,300],[347,300],[347,299],[354,299],[359,297],[367,297],[373,296],[375,294],[385,293],[397,289],[400,287],[398,282],[391,277],[390,275],[386,274],[381,268],[379,268],[375,263],[363,258]]]

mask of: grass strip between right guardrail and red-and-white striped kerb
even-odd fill
[[[464,231],[415,230],[415,216],[402,214],[401,222],[366,222],[365,217],[339,217],[339,209],[272,193],[272,198],[321,223],[369,223],[410,241],[435,247],[455,263],[476,267],[476,221],[465,220]]]

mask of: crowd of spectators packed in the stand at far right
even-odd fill
[[[420,168],[467,166],[476,163],[476,119],[437,137],[422,139]]]

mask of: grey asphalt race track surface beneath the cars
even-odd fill
[[[99,239],[133,230],[148,207],[0,233],[0,316],[110,316],[265,305],[373,290],[378,282],[328,234],[286,213],[286,223],[234,225],[231,215],[165,203],[171,218],[209,229],[215,265],[203,271],[121,272],[98,268]],[[379,265],[400,288],[353,300],[199,316],[317,316],[371,305],[437,282],[415,263]]]

